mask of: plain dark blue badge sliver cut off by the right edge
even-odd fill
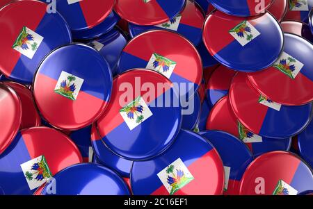
[[[298,135],[297,144],[300,156],[313,168],[313,122]]]

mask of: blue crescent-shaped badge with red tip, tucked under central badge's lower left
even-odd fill
[[[93,162],[109,167],[115,172],[118,172],[121,176],[129,178],[133,161],[115,155],[115,153],[106,147],[99,136],[95,124],[93,124],[91,128],[91,144],[93,145],[93,150],[95,151],[95,161]]]

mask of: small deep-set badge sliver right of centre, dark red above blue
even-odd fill
[[[230,83],[236,72],[223,65],[216,68],[207,83],[207,99],[212,107],[222,97],[228,94]]]

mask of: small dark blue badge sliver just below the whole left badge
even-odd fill
[[[70,133],[71,140],[76,144],[81,152],[81,156],[83,156],[83,162],[93,161],[93,148],[91,147],[90,135],[91,126]]]

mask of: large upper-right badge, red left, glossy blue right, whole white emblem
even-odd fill
[[[204,22],[203,41],[218,62],[241,72],[270,67],[283,47],[280,25],[268,12],[234,17],[215,10]]]

